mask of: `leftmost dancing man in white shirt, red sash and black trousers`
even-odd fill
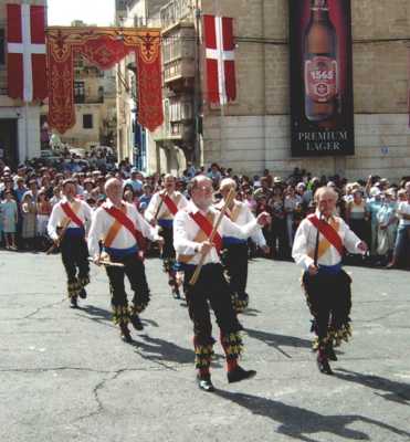
[[[85,286],[90,283],[88,250],[85,241],[85,223],[91,222],[90,206],[75,198],[76,182],[67,179],[62,187],[63,199],[51,212],[49,236],[60,246],[67,274],[67,292],[72,308],[77,308],[78,296],[86,298]]]

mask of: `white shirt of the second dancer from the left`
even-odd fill
[[[135,228],[141,232],[141,234],[150,241],[158,241],[159,236],[156,229],[147,223],[143,215],[137,211],[134,204],[123,201],[125,204],[125,214],[133,221]],[[105,203],[107,208],[112,208],[114,204],[108,199]],[[93,221],[88,232],[88,251],[93,257],[99,256],[99,244],[101,240],[104,240],[108,233],[111,227],[114,224],[115,218],[113,218],[103,207],[99,207],[93,214]],[[135,236],[124,225],[120,227],[118,233],[114,238],[113,243],[109,245],[113,249],[130,249],[136,245]]]

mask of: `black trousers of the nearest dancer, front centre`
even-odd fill
[[[230,358],[238,358],[242,350],[239,332],[242,329],[231,302],[231,291],[223,276],[221,264],[208,264],[202,267],[193,287],[189,281],[195,269],[186,270],[185,285],[189,316],[193,323],[193,346],[197,368],[209,367],[214,339],[210,307],[220,328],[223,347],[229,347]]]

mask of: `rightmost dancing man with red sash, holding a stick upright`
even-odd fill
[[[351,336],[351,278],[341,269],[344,248],[350,253],[366,253],[367,245],[335,215],[337,193],[323,187],[315,193],[316,212],[298,227],[292,256],[305,269],[303,286],[314,317],[312,332],[317,336],[317,366],[332,375],[329,360],[337,360],[334,346]]]

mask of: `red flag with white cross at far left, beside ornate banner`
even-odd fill
[[[45,9],[42,6],[7,6],[9,96],[27,103],[48,96]]]

